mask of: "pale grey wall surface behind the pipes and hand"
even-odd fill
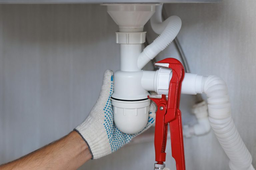
[[[227,82],[234,121],[256,166],[256,2],[165,8],[182,19],[178,38],[191,72]],[[117,29],[99,5],[0,5],[0,164],[58,139],[86,118],[104,70],[119,69]],[[146,31],[153,40],[149,25]],[[173,56],[178,53],[171,44],[158,59]],[[182,96],[184,122],[192,104],[193,97]],[[212,131],[184,144],[187,169],[228,169]],[[175,168],[168,146],[167,166]],[[80,169],[152,169],[153,163],[150,142],[125,146]]]

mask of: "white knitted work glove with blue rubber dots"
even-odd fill
[[[92,108],[86,120],[76,127],[77,131],[84,139],[92,159],[97,159],[108,155],[138,134],[151,127],[155,121],[156,106],[153,102],[149,109],[149,119],[146,127],[136,134],[126,134],[121,132],[113,123],[113,109],[110,97],[113,93],[113,71],[106,70],[100,96]]]

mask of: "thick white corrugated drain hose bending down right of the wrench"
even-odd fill
[[[231,117],[226,83],[217,76],[207,77],[204,92],[208,99],[210,125],[230,159],[231,170],[254,170],[252,156],[239,135]]]

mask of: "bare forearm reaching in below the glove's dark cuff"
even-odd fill
[[[10,169],[77,169],[91,159],[89,149],[81,136],[72,131],[67,136],[46,145],[20,159],[0,166]]]

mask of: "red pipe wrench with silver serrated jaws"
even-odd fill
[[[175,58],[166,58],[155,63],[156,66],[172,69],[172,78],[169,85],[168,100],[166,95],[151,95],[149,99],[157,105],[155,125],[155,169],[165,167],[165,148],[167,141],[168,124],[170,125],[172,157],[176,161],[177,170],[185,170],[185,156],[183,145],[182,121],[180,106],[181,83],[184,78],[184,67]]]

